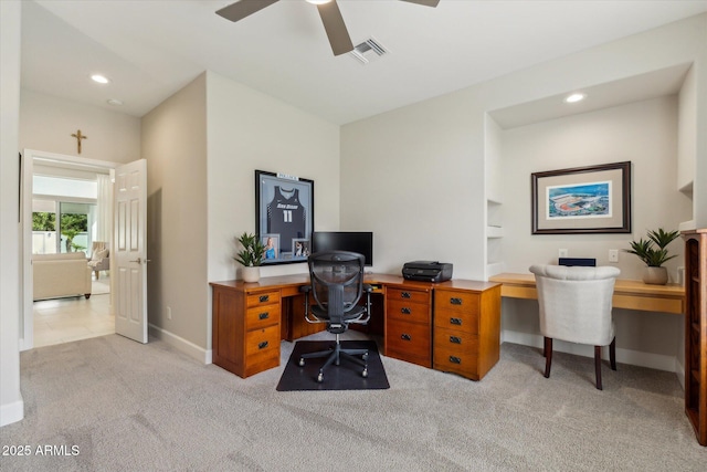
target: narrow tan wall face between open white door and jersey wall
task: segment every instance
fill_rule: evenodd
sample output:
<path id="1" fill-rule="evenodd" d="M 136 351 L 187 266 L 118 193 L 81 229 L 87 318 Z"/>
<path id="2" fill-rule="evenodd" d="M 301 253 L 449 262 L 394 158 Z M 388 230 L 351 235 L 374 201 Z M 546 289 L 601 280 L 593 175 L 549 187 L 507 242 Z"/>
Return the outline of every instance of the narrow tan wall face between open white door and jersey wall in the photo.
<path id="1" fill-rule="evenodd" d="M 207 347 L 207 80 L 143 118 L 147 159 L 148 319 L 152 334 Z M 171 311 L 171 319 L 167 316 Z"/>

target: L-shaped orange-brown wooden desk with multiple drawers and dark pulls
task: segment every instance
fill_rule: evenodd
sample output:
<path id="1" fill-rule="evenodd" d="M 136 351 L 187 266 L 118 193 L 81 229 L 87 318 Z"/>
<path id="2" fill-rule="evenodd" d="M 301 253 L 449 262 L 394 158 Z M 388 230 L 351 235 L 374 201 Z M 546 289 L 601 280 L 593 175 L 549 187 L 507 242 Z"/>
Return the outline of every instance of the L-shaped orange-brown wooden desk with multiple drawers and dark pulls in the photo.
<path id="1" fill-rule="evenodd" d="M 367 274 L 365 281 L 373 286 L 373 297 L 382 296 L 371 322 L 382 318 L 384 355 L 474 380 L 498 361 L 500 284 L 433 284 L 389 274 Z M 281 339 L 321 331 L 324 324 L 304 321 L 299 289 L 308 283 L 309 274 L 211 282 L 213 364 L 245 378 L 279 365 Z M 434 306 L 440 306 L 439 319 Z"/>

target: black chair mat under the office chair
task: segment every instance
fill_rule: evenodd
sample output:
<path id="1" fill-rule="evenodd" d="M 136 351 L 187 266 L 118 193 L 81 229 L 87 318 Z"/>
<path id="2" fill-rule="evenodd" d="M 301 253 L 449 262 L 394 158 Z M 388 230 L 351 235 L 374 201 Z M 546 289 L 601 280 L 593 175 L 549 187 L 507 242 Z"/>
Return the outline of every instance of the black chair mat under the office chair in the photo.
<path id="1" fill-rule="evenodd" d="M 368 377 L 361 377 L 362 367 L 341 358 L 339 366 L 330 365 L 324 369 L 324 381 L 317 381 L 319 368 L 326 358 L 306 359 L 299 367 L 299 356 L 334 347 L 334 340 L 298 340 L 283 371 L 278 391 L 293 390 L 369 390 L 390 388 L 386 369 L 378 354 L 374 340 L 342 340 L 341 347 L 348 349 L 368 349 Z"/>

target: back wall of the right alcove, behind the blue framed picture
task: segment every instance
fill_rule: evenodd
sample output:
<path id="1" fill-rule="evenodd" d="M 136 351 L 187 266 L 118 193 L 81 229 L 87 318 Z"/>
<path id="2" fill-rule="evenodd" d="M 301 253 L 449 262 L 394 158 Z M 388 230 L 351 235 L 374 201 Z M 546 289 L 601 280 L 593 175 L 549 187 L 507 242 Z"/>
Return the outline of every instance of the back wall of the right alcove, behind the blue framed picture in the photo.
<path id="1" fill-rule="evenodd" d="M 664 96 L 502 132 L 506 270 L 528 272 L 534 263 L 557 263 L 558 249 L 563 248 L 570 256 L 618 266 L 624 279 L 641 279 L 643 264 L 635 255 L 620 252 L 614 264 L 608 260 L 609 250 L 627 249 L 648 229 L 677 230 L 692 214 L 690 201 L 676 186 L 677 105 L 676 95 Z M 530 234 L 530 174 L 624 160 L 632 162 L 632 233 Z M 668 249 L 677 255 L 666 264 L 675 280 L 677 266 L 684 265 L 682 240 Z M 537 344 L 537 303 L 504 302 L 506 339 Z M 672 359 L 682 358 L 683 316 L 614 310 L 614 322 L 621 361 L 673 370 Z"/>

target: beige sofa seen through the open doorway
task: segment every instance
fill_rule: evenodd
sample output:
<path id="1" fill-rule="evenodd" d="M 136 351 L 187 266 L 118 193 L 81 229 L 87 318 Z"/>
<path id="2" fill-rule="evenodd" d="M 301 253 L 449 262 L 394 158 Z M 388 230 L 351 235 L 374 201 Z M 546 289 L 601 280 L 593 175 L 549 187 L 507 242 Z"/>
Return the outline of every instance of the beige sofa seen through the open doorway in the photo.
<path id="1" fill-rule="evenodd" d="M 84 252 L 32 255 L 33 300 L 91 297 L 91 268 Z"/>

